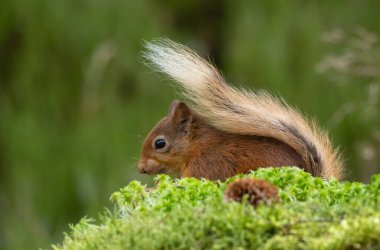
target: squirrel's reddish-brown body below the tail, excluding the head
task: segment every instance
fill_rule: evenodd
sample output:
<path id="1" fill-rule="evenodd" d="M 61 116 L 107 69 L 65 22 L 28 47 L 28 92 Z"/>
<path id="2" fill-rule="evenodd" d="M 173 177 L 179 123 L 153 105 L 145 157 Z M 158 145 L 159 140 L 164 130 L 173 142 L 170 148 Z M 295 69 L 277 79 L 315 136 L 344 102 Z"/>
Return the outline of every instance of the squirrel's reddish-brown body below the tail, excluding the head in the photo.
<path id="1" fill-rule="evenodd" d="M 225 180 L 259 167 L 299 166 L 299 155 L 283 142 L 260 136 L 234 135 L 207 126 L 197 131 L 189 147 L 188 159 L 181 169 L 183 177 Z"/>

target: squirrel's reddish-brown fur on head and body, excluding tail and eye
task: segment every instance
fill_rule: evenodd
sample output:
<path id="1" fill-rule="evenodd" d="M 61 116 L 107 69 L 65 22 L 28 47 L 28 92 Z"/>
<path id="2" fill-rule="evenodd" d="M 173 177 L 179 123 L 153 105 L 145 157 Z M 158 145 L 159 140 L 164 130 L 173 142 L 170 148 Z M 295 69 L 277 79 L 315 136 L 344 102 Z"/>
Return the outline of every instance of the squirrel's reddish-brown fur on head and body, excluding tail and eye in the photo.
<path id="1" fill-rule="evenodd" d="M 220 131 L 191 112 L 184 103 L 174 101 L 171 106 L 175 112 L 170 110 L 169 116 L 153 128 L 144 142 L 139 162 L 142 173 L 174 173 L 181 177 L 225 180 L 260 167 L 305 166 L 302 158 L 281 141 Z M 183 117 L 184 113 L 186 117 Z M 187 134 L 183 134 L 180 128 L 181 119 L 188 122 Z M 155 152 L 152 142 L 157 136 L 168 141 L 169 151 Z M 149 159 L 159 164 L 149 166 Z"/>

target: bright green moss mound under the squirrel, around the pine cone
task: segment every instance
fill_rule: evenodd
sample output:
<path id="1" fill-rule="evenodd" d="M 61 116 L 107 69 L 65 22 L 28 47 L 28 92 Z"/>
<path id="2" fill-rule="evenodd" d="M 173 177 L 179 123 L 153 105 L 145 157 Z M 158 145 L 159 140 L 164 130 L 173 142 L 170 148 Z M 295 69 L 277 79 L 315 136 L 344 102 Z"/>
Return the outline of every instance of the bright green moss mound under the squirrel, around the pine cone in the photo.
<path id="1" fill-rule="evenodd" d="M 226 202 L 227 183 L 157 177 L 111 196 L 114 212 L 82 219 L 55 249 L 356 249 L 380 247 L 380 175 L 370 184 L 324 181 L 297 168 L 249 174 L 282 202 L 256 209 Z M 236 177 L 235 177 L 236 178 Z"/>

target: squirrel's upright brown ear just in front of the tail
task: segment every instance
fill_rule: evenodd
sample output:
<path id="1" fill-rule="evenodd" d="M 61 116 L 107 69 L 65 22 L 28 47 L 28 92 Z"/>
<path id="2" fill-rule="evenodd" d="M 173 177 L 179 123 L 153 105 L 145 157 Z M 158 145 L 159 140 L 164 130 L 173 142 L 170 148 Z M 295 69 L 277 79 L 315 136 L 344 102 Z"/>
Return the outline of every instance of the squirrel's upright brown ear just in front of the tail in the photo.
<path id="1" fill-rule="evenodd" d="M 184 102 L 173 101 L 169 107 L 168 117 L 175 126 L 178 126 L 180 131 L 185 134 L 189 132 L 192 114 L 190 108 Z"/>

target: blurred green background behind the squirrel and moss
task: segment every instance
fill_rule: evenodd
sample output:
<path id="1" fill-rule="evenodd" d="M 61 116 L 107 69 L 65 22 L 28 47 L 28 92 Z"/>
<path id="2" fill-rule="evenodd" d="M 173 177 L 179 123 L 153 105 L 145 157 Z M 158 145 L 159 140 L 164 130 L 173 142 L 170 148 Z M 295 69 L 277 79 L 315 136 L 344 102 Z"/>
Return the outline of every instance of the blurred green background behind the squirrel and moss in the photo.
<path id="1" fill-rule="evenodd" d="M 380 172 L 380 1 L 0 1 L 0 249 L 46 248 L 137 173 L 178 97 L 141 60 L 169 37 L 318 118 L 347 179 Z"/>

